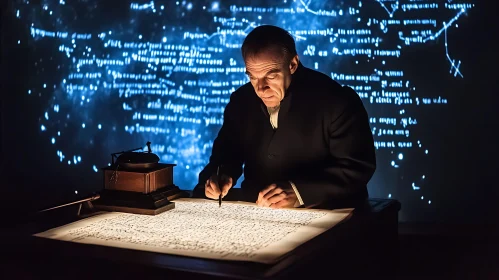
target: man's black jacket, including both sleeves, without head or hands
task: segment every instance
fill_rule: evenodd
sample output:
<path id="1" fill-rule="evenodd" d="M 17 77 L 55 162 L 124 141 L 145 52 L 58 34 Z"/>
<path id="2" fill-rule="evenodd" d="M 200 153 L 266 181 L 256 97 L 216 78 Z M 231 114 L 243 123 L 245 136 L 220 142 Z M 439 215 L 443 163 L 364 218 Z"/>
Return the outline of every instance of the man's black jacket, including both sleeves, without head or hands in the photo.
<path id="1" fill-rule="evenodd" d="M 286 91 L 278 128 L 250 83 L 230 97 L 195 197 L 223 165 L 234 184 L 242 174 L 244 200 L 255 202 L 272 183 L 292 181 L 305 205 L 324 200 L 365 199 L 376 169 L 369 118 L 357 93 L 299 65 Z"/>

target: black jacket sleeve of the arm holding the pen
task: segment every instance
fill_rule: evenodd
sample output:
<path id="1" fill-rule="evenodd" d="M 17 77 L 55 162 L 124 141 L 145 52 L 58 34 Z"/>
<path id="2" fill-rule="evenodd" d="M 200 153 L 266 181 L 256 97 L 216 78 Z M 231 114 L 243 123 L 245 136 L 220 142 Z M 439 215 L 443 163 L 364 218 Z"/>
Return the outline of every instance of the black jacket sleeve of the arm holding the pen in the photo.
<path id="1" fill-rule="evenodd" d="M 241 133 L 239 130 L 239 116 L 242 112 L 238 107 L 238 100 L 234 97 L 237 92 L 231 95 L 230 101 L 224 110 L 224 120 L 217 137 L 213 141 L 213 147 L 208 164 L 199 173 L 199 181 L 193 190 L 193 197 L 206 198 L 204 186 L 211 175 L 217 172 L 220 166 L 220 172 L 232 178 L 234 186 L 242 175 L 243 150 L 240 147 Z"/>

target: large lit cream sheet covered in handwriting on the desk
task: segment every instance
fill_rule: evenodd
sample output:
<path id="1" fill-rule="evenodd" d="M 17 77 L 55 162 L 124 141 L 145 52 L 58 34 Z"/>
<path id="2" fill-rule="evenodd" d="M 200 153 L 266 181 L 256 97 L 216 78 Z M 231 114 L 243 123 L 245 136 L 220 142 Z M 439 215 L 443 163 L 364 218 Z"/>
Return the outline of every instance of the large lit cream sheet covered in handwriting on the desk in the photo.
<path id="1" fill-rule="evenodd" d="M 156 216 L 108 212 L 35 236 L 199 258 L 273 263 L 353 209 L 270 209 L 247 202 L 177 199 Z"/>

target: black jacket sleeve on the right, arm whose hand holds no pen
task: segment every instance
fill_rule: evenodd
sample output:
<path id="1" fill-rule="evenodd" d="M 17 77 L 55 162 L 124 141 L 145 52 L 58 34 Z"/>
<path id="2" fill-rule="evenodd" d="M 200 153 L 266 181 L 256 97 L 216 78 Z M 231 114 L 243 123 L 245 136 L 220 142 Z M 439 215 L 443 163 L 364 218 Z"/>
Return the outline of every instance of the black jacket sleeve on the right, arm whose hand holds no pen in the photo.
<path id="1" fill-rule="evenodd" d="M 313 167 L 306 178 L 292 179 L 305 205 L 367 196 L 367 183 L 376 169 L 369 118 L 353 89 L 343 87 L 342 94 L 336 113 L 326 118 L 328 162 Z"/>

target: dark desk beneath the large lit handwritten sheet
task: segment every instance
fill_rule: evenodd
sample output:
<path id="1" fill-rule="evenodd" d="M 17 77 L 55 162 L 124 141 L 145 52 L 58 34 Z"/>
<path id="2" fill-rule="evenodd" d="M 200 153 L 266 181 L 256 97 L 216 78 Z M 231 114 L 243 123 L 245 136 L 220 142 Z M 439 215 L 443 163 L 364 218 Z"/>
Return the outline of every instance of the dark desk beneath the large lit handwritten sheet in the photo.
<path id="1" fill-rule="evenodd" d="M 398 260 L 395 200 L 370 199 L 346 222 L 276 264 L 206 260 L 32 237 L 57 226 L 25 224 L 10 232 L 7 275 L 16 279 L 357 279 L 394 278 Z M 69 220 L 58 220 L 65 224 Z M 61 224 L 61 225 L 62 225 Z M 393 272 L 391 274 L 390 272 Z M 337 278 L 338 277 L 338 278 Z M 12 278 L 13 279 L 13 278 Z"/>

